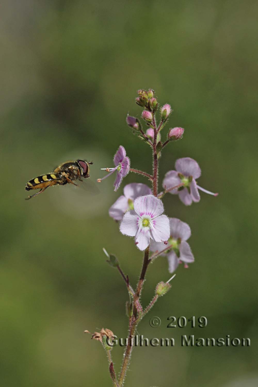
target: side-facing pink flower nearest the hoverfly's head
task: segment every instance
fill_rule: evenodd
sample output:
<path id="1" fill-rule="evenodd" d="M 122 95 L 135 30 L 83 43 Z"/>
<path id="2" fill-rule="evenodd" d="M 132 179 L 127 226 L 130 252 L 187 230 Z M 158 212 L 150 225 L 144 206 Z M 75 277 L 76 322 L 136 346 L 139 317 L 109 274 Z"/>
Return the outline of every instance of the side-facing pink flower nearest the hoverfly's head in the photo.
<path id="1" fill-rule="evenodd" d="M 108 172 L 110 171 L 110 173 L 108 173 L 108 175 L 104 176 L 102 179 L 97 179 L 97 182 L 100 183 L 102 180 L 112 175 L 114 171 L 117 171 L 116 180 L 114 181 L 114 191 L 117 191 L 123 178 L 130 170 L 130 159 L 126 156 L 125 148 L 122 145 L 120 145 L 118 151 L 114 155 L 114 165 L 115 168 L 101 168 L 102 170 L 106 170 Z"/>

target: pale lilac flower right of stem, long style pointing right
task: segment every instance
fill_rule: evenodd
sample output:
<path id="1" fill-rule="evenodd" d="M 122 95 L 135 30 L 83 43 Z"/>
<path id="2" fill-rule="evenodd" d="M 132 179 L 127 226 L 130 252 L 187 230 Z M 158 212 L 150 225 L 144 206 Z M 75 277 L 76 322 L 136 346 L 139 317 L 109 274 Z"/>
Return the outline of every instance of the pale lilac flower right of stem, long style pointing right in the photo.
<path id="1" fill-rule="evenodd" d="M 200 195 L 198 189 L 206 192 L 206 194 L 217 196 L 213 192 L 207 191 L 196 184 L 196 179 L 201 176 L 201 169 L 197 161 L 190 157 L 185 157 L 176 160 L 176 170 L 168 171 L 162 182 L 164 189 L 176 187 L 182 184 L 181 187 L 169 191 L 170 194 L 178 194 L 179 199 L 185 204 L 190 205 L 192 202 L 199 202 Z"/>

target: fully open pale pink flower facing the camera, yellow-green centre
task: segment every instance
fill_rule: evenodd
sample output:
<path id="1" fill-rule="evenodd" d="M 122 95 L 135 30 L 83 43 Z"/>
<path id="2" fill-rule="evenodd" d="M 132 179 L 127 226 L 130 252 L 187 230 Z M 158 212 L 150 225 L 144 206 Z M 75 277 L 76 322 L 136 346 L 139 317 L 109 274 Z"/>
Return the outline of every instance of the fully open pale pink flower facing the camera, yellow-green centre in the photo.
<path id="1" fill-rule="evenodd" d="M 150 244 L 150 238 L 156 242 L 169 238 L 169 219 L 164 212 L 162 201 L 153 195 L 137 197 L 133 202 L 134 209 L 127 211 L 120 223 L 124 235 L 134 236 L 140 250 Z"/>

